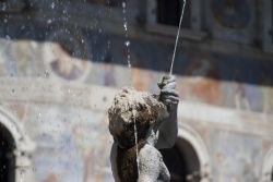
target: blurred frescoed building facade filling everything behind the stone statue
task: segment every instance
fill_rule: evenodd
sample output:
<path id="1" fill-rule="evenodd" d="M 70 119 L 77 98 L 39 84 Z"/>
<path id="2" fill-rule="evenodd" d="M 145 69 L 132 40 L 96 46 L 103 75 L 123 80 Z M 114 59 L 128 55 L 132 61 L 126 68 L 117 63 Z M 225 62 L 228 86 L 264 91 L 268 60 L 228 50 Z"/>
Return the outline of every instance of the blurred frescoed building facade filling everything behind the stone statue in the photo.
<path id="1" fill-rule="evenodd" d="M 171 182 L 273 181 L 273 1 L 188 0 Z M 158 94 L 182 0 L 0 0 L 0 182 L 111 182 L 107 108 Z"/>

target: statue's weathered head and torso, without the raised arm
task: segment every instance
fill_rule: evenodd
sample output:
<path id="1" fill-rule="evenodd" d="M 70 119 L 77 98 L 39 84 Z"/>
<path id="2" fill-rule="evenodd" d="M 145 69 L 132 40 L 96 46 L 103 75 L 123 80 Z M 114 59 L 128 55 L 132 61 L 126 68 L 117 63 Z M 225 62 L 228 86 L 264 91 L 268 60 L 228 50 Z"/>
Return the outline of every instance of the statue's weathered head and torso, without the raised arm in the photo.
<path id="1" fill-rule="evenodd" d="M 154 128 L 162 123 L 163 114 L 167 116 L 166 106 L 149 93 L 123 88 L 116 95 L 108 110 L 116 181 L 169 180 L 163 157 L 154 146 L 158 137 Z"/>

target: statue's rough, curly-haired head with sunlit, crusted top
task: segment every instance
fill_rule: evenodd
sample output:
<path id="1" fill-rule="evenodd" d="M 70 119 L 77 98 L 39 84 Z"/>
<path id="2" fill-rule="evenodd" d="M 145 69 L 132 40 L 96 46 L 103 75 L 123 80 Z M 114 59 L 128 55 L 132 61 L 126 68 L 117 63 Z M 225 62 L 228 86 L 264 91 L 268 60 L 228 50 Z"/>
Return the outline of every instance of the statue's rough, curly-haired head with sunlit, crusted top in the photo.
<path id="1" fill-rule="evenodd" d="M 119 92 L 108 110 L 109 131 L 120 147 L 135 145 L 134 123 L 138 142 L 145 141 L 159 118 L 166 113 L 166 107 L 149 93 L 123 88 Z"/>

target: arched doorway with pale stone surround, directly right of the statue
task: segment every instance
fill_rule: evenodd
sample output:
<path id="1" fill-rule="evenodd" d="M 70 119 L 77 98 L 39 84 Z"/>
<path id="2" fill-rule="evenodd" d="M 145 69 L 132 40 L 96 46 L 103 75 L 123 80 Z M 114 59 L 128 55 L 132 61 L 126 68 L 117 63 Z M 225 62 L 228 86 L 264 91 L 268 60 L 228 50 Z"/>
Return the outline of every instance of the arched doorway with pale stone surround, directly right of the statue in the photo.
<path id="1" fill-rule="evenodd" d="M 179 126 L 178 138 L 170 149 L 162 149 L 170 172 L 170 182 L 210 181 L 210 159 L 201 137 L 189 126 Z"/>

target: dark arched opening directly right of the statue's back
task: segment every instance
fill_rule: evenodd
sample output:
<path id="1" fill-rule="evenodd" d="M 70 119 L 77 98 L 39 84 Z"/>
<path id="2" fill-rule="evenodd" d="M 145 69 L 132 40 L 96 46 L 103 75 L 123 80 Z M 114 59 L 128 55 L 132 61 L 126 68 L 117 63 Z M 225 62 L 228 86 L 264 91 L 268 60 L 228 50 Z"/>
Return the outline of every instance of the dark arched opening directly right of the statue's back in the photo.
<path id="1" fill-rule="evenodd" d="M 178 138 L 170 149 L 161 149 L 164 162 L 170 172 L 170 182 L 199 182 L 200 161 L 192 145 Z"/>

